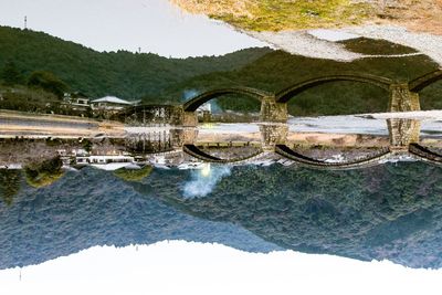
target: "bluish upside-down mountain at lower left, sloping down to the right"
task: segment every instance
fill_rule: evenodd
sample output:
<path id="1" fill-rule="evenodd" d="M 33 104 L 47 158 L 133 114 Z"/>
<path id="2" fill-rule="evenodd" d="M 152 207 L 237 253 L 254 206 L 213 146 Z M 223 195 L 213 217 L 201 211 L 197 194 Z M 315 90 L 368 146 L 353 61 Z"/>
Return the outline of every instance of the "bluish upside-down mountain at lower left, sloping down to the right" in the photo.
<path id="1" fill-rule="evenodd" d="M 280 249 L 241 226 L 188 215 L 150 194 L 140 196 L 112 173 L 93 169 L 67 173 L 49 188 L 23 188 L 12 206 L 0 201 L 0 268 L 94 245 L 164 240 L 217 242 L 251 252 Z"/>

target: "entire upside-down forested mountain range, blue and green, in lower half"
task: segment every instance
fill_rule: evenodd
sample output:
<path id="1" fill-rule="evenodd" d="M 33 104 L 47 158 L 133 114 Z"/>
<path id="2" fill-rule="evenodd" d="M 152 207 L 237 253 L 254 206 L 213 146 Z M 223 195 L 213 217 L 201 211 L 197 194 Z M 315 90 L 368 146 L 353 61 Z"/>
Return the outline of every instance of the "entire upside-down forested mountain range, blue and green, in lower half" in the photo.
<path id="1" fill-rule="evenodd" d="M 0 267 L 167 239 L 442 266 L 441 168 L 235 167 L 209 196 L 183 199 L 188 180 L 189 171 L 172 169 L 124 183 L 84 169 L 49 188 L 23 189 L 11 207 L 0 203 Z"/>

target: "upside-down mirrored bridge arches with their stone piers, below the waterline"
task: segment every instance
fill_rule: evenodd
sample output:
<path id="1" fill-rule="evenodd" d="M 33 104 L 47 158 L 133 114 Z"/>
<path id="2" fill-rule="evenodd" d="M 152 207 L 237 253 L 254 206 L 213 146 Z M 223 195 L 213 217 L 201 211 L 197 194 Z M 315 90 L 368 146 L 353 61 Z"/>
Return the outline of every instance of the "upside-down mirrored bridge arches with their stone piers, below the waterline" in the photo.
<path id="1" fill-rule="evenodd" d="M 286 141 L 288 126 L 281 124 L 276 126 L 261 126 L 261 148 L 245 157 L 222 159 L 199 149 L 191 140 L 183 144 L 183 151 L 202 161 L 219 164 L 248 164 L 265 159 L 269 155 L 275 154 L 281 159 L 288 160 L 299 166 L 336 170 L 366 168 L 400 158 L 411 158 L 442 165 L 442 156 L 419 144 L 420 122 L 414 119 L 388 119 L 387 125 L 389 127 L 388 147 L 380 147 L 367 156 L 349 161 L 318 160 L 296 151 L 291 148 Z M 196 141 L 194 139 L 196 137 L 193 141 Z"/>

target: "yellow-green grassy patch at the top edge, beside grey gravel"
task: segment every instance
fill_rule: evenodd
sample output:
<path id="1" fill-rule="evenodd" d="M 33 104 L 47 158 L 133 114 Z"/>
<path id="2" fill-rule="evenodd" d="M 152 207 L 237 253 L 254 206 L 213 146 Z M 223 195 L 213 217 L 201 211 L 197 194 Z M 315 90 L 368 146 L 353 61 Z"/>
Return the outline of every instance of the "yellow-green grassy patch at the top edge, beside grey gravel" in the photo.
<path id="1" fill-rule="evenodd" d="M 175 0 L 173 2 L 188 11 L 204 13 L 250 31 L 359 24 L 372 17 L 373 11 L 370 4 L 349 0 Z"/>

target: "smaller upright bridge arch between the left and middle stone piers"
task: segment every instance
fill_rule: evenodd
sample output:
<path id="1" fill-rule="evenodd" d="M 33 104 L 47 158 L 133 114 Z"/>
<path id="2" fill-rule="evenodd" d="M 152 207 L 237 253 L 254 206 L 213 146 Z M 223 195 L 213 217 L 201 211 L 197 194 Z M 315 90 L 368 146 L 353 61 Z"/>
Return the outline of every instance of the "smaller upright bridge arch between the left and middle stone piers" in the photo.
<path id="1" fill-rule="evenodd" d="M 260 102 L 264 97 L 272 95 L 267 92 L 255 89 L 255 88 L 250 88 L 250 87 L 231 87 L 231 88 L 211 89 L 211 91 L 201 93 L 200 95 L 193 97 L 189 102 L 186 102 L 185 105 L 182 106 L 182 108 L 185 109 L 185 112 L 194 112 L 198 109 L 198 107 L 206 104 L 210 99 L 213 99 L 213 98 L 220 97 L 222 95 L 227 95 L 227 94 L 246 95 L 246 96 L 255 98 Z"/>

